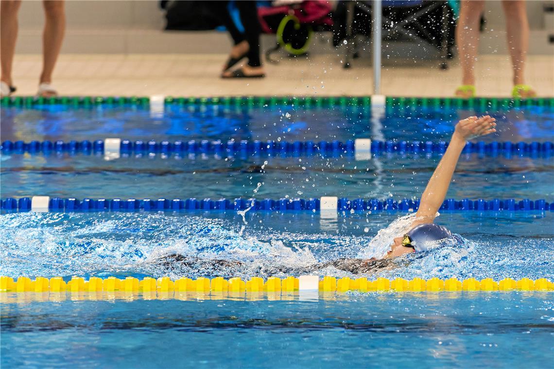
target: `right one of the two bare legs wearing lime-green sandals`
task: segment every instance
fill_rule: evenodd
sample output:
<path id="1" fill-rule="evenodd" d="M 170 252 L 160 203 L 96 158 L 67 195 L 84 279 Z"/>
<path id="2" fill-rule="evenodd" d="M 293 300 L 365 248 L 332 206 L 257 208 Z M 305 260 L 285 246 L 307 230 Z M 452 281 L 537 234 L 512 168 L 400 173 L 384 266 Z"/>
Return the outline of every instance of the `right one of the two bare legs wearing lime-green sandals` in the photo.
<path id="1" fill-rule="evenodd" d="M 524 85 L 525 57 L 529 48 L 529 22 L 523 0 L 502 1 L 506 14 L 508 49 L 514 68 L 514 85 Z M 535 91 L 522 91 L 522 97 L 535 96 Z"/>

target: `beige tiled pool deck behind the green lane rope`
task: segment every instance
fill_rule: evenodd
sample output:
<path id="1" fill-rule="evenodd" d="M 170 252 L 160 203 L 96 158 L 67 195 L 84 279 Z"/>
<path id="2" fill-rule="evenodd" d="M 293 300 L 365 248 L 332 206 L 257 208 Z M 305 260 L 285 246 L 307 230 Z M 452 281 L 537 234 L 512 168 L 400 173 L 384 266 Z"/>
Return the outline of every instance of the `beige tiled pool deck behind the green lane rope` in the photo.
<path id="1" fill-rule="evenodd" d="M 344 70 L 340 57 L 315 55 L 266 64 L 265 79 L 222 80 L 219 54 L 64 54 L 54 73 L 54 85 L 64 96 L 362 96 L 373 92 L 368 58 Z M 16 95 L 34 95 L 41 55 L 16 55 Z M 387 60 L 382 70 L 382 94 L 387 96 L 452 96 L 460 82 L 456 59 L 448 70 L 438 60 Z M 527 82 L 539 96 L 554 96 L 554 56 L 529 56 Z M 476 75 L 478 96 L 509 96 L 511 66 L 507 55 L 480 56 Z"/>

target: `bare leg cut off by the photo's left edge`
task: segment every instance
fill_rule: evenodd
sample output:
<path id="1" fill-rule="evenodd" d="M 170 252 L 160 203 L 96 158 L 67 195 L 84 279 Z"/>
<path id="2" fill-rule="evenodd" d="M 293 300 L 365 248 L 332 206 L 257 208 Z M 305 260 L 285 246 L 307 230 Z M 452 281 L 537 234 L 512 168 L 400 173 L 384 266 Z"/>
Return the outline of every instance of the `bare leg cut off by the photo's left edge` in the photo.
<path id="1" fill-rule="evenodd" d="M 17 12 L 21 0 L 3 0 L 0 2 L 0 80 L 12 86 L 13 55 L 16 51 Z"/>

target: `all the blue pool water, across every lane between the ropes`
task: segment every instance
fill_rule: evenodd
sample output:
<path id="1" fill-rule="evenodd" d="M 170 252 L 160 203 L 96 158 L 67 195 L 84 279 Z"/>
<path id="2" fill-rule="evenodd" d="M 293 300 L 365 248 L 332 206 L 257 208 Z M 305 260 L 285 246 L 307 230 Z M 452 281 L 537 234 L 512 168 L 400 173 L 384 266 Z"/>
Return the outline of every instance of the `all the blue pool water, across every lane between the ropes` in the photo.
<path id="1" fill-rule="evenodd" d="M 42 106 L 1 109 L 2 140 L 448 139 L 485 112 L 361 107 Z M 490 112 L 489 141 L 554 141 L 554 111 Z M 0 156 L 2 198 L 419 198 L 440 157 L 120 158 Z M 463 155 L 447 197 L 554 200 L 552 157 Z M 554 280 L 554 212 L 444 211 L 456 247 L 397 259 L 377 277 Z M 392 225 L 391 225 L 392 223 Z M 321 219 L 310 212 L 3 213 L 6 276 L 280 276 L 351 274 L 319 262 L 381 257 L 409 224 L 400 212 Z M 381 230 L 381 232 L 379 232 Z M 378 233 L 379 232 L 379 233 Z M 189 263 L 167 263 L 168 254 Z M 197 260 L 199 258 L 199 260 Z M 238 267 L 206 267 L 229 259 Z M 209 263 L 208 263 L 209 264 Z M 283 267 L 287 272 L 275 270 Z M 0 294 L 2 367 L 550 367 L 552 293 L 354 293 L 312 300 L 262 296 L 145 300 Z M 44 300 L 44 301 L 43 301 Z"/>

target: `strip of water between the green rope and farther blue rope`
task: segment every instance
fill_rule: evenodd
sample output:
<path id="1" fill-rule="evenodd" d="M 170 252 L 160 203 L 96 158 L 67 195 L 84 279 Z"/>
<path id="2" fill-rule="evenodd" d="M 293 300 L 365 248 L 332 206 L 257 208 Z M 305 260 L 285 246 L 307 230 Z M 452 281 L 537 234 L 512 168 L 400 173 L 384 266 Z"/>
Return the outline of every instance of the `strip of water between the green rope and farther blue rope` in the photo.
<path id="1" fill-rule="evenodd" d="M 223 105 L 166 105 L 162 114 L 140 106 L 74 108 L 43 105 L 33 109 L 3 107 L 2 140 L 71 139 L 274 139 L 277 141 L 358 137 L 439 141 L 448 139 L 454 123 L 471 115 L 490 114 L 497 133 L 488 141 L 551 141 L 553 107 L 512 108 L 507 111 L 455 108 L 388 108 L 376 113 L 368 107 L 305 108 L 294 105 L 232 107 Z"/>

